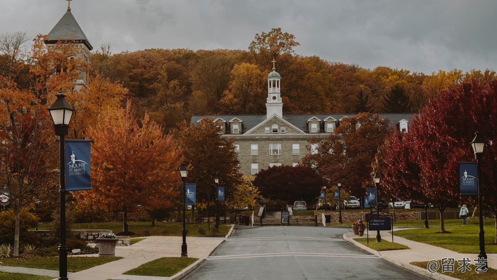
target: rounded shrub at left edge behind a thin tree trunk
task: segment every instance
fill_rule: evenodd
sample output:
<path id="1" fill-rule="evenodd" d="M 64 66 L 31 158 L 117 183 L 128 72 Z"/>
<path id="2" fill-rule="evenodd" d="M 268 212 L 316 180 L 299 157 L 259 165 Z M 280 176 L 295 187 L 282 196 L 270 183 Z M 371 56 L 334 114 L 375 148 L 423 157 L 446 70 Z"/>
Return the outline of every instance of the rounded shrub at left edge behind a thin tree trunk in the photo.
<path id="1" fill-rule="evenodd" d="M 21 210 L 19 224 L 19 243 L 29 243 L 36 240 L 36 233 L 30 229 L 36 227 L 36 217 L 26 209 Z M 14 244 L 15 216 L 12 209 L 0 212 L 0 243 Z"/>

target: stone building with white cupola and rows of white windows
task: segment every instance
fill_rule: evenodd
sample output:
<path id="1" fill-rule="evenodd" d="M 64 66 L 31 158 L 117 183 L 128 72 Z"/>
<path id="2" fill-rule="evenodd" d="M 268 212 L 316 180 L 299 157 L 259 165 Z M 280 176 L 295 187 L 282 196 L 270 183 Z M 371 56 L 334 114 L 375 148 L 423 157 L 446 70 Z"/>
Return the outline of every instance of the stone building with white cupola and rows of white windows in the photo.
<path id="1" fill-rule="evenodd" d="M 222 137 L 232 138 L 239 153 L 240 172 L 256 174 L 270 166 L 295 166 L 316 150 L 309 143 L 312 137 L 327 138 L 344 117 L 357 114 L 283 115 L 281 76 L 267 75 L 266 115 L 193 115 L 196 125 L 202 118 L 213 119 L 222 129 Z M 378 114 L 390 125 L 408 131 L 412 114 Z"/>

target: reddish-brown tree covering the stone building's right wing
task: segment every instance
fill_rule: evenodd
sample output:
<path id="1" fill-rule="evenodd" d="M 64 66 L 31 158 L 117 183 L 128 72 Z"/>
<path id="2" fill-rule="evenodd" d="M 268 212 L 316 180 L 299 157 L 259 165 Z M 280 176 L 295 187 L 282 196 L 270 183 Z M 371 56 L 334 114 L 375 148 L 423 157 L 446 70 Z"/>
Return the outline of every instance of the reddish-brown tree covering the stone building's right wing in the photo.
<path id="1" fill-rule="evenodd" d="M 341 181 L 353 195 L 362 197 L 364 187 L 372 182 L 374 156 L 388 134 L 388 120 L 378 115 L 359 113 L 342 118 L 327 139 L 309 140 L 316 150 L 302 162 L 315 168 L 327 182 Z"/>

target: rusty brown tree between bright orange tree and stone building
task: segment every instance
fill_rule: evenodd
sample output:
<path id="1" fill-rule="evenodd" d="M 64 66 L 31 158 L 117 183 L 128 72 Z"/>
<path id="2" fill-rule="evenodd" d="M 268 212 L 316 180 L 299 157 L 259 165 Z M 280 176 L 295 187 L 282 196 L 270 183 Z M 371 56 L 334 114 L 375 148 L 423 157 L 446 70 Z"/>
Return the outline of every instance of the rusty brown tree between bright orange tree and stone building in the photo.
<path id="1" fill-rule="evenodd" d="M 195 126 L 184 122 L 181 129 L 171 131 L 175 142 L 183 150 L 184 161 L 189 165 L 188 182 L 197 184 L 197 206 L 206 207 L 208 193 L 215 193 L 214 175 L 219 185 L 225 186 L 225 203 L 228 206 L 254 205 L 257 189 L 250 179 L 240 173 L 238 153 L 233 139 L 222 138 L 220 127 L 212 119 L 204 118 Z"/>

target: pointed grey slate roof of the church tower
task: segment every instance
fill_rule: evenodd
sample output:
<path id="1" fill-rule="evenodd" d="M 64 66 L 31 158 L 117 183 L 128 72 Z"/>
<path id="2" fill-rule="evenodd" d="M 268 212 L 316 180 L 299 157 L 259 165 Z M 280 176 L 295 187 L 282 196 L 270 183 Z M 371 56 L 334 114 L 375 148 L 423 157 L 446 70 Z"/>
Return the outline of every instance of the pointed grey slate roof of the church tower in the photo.
<path id="1" fill-rule="evenodd" d="M 74 37 L 72 37 L 73 34 Z M 54 28 L 48 33 L 48 37 L 49 39 L 45 40 L 45 44 L 55 44 L 59 39 L 71 39 L 82 41 L 89 50 L 93 49 L 70 10 L 55 24 Z"/>

